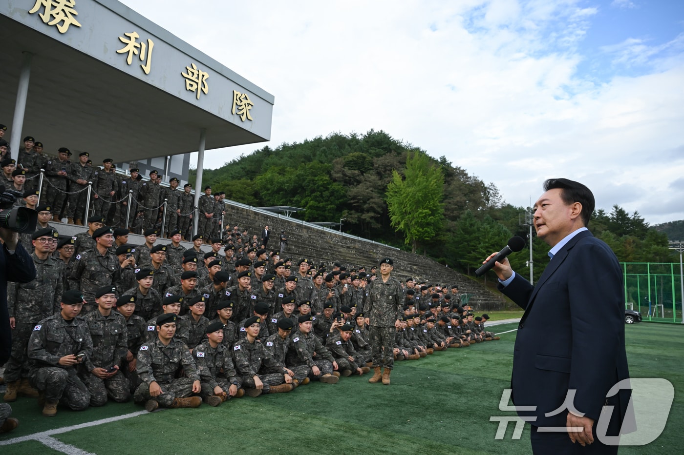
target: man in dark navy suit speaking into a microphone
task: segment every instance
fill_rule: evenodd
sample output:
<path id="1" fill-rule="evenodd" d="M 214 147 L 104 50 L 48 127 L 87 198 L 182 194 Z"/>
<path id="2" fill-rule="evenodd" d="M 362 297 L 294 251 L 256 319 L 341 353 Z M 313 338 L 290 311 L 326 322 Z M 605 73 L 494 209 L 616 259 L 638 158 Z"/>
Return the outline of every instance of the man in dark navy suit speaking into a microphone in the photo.
<path id="1" fill-rule="evenodd" d="M 564 178 L 547 180 L 544 191 L 534 227 L 551 247 L 551 262 L 538 283 L 516 275 L 508 260 L 494 267 L 499 290 L 525 310 L 513 354 L 513 403 L 532 425 L 535 454 L 615 454 L 618 446 L 605 445 L 596 425 L 609 419 L 605 434 L 619 435 L 629 403 L 626 389 L 607 396 L 629 378 L 622 270 L 587 229 L 591 191 Z M 560 431 L 543 430 L 551 427 Z"/>

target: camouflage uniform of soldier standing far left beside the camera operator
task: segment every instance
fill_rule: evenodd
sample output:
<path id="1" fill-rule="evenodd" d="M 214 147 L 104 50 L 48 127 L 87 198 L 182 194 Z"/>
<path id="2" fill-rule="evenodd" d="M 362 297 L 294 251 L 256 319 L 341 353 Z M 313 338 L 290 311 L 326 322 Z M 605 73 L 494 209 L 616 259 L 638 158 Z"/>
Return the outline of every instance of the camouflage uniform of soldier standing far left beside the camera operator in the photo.
<path id="1" fill-rule="evenodd" d="M 31 254 L 36 267 L 36 278 L 28 283 L 8 282 L 7 307 L 14 318 L 12 351 L 5 364 L 5 382 L 19 381 L 27 376 L 27 344 L 38 321 L 60 311 L 60 299 L 64 293 L 64 262 L 48 256 L 38 259 Z M 22 374 L 22 370 L 26 370 Z"/>

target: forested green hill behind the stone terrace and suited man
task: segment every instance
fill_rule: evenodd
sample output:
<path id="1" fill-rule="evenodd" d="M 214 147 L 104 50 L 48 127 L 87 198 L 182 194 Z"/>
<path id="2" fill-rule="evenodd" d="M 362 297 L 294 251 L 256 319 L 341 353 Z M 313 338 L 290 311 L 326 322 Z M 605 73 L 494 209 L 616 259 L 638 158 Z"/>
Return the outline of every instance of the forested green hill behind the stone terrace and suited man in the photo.
<path id="1" fill-rule="evenodd" d="M 195 174 L 190 171 L 191 182 Z M 205 169 L 202 180 L 243 204 L 300 207 L 293 217 L 311 222 L 344 219 L 344 232 L 410 247 L 465 273 L 510 236 L 527 238 L 520 225 L 525 208 L 505 204 L 494 184 L 383 131 L 264 147 L 220 169 Z M 590 225 L 620 261 L 670 262 L 666 235 L 648 228 L 638 212 L 629 215 L 620 206 L 610 213 L 596 210 Z M 548 247 L 533 240 L 538 277 Z M 529 253 L 509 259 L 525 273 Z"/>

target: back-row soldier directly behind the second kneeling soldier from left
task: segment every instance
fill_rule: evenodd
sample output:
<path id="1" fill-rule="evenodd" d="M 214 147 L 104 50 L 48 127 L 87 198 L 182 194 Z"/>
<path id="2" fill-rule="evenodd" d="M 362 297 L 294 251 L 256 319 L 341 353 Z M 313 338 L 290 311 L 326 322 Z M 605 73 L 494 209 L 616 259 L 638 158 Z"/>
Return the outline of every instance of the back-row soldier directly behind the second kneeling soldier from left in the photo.
<path id="1" fill-rule="evenodd" d="M 76 256 L 76 263 L 69 275 L 69 288 L 83 292 L 88 303 L 83 307 L 83 313 L 94 309 L 95 292 L 103 286 L 114 284 L 121 271 L 119 259 L 109 250 L 114 243 L 114 230 L 105 226 L 96 230 L 92 238 L 96 247 Z"/>

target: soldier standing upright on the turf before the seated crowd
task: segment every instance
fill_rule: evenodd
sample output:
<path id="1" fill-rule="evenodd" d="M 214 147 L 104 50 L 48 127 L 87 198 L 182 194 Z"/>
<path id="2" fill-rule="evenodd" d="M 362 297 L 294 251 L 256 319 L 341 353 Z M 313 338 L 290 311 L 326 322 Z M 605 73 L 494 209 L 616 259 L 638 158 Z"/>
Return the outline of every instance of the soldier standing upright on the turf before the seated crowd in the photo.
<path id="1" fill-rule="evenodd" d="M 404 291 L 397 279 L 390 276 L 393 260 L 384 258 L 380 262 L 380 279 L 371 281 L 366 288 L 367 299 L 365 313 L 368 316 L 369 338 L 373 350 L 373 377 L 369 383 L 378 383 L 382 378 L 384 385 L 389 385 L 390 374 L 394 366 L 393 353 L 390 346 L 395 344 L 396 328 L 399 327 L 399 315 L 404 306 Z M 380 368 L 384 367 L 382 374 Z"/>

